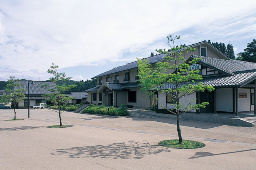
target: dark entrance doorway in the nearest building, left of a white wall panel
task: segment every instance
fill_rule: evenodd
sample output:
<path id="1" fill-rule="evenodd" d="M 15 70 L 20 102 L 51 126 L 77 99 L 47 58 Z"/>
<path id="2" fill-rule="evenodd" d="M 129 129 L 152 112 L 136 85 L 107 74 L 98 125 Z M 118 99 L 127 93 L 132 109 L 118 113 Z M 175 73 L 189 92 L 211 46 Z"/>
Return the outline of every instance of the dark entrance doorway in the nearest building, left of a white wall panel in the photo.
<path id="1" fill-rule="evenodd" d="M 199 101 L 202 102 L 208 102 L 209 105 L 206 106 L 206 108 L 202 109 L 200 108 L 200 113 L 214 113 L 214 91 L 204 91 L 199 93 Z"/>

